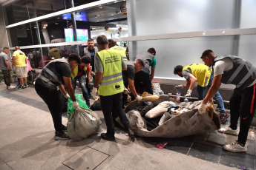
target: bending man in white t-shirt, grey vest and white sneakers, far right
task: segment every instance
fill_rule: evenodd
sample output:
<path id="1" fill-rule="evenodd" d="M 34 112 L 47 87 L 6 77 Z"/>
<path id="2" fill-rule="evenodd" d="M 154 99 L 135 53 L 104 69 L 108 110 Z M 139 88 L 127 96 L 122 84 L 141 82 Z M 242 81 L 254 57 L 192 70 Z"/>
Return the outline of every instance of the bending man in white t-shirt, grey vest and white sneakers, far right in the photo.
<path id="1" fill-rule="evenodd" d="M 248 61 L 234 55 L 215 56 L 212 50 L 203 52 L 201 58 L 206 66 L 214 66 L 214 79 L 198 112 L 206 112 L 206 103 L 220 88 L 220 84 L 234 84 L 236 88 L 230 99 L 230 126 L 220 129 L 230 135 L 238 135 L 233 143 L 223 146 L 230 152 L 246 152 L 246 140 L 256 109 L 256 68 Z M 240 117 L 240 131 L 237 121 Z"/>

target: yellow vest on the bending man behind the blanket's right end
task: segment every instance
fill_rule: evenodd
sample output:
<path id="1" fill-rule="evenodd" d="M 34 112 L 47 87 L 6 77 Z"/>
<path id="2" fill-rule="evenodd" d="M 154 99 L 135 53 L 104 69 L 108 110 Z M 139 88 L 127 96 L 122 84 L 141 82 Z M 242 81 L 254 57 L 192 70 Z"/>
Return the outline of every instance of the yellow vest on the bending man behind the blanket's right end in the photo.
<path id="1" fill-rule="evenodd" d="M 199 86 L 207 86 L 209 84 L 212 71 L 211 67 L 208 67 L 205 64 L 190 64 L 183 67 L 183 70 L 188 68 L 191 69 L 191 74 L 197 78 L 197 84 Z"/>

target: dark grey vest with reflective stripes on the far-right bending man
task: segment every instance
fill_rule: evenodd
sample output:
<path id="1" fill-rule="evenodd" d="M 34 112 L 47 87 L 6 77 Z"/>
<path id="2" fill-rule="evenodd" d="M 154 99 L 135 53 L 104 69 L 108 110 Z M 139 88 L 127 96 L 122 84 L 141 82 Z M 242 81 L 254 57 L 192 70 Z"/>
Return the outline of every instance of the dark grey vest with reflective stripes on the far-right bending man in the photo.
<path id="1" fill-rule="evenodd" d="M 248 61 L 234 55 L 217 56 L 214 58 L 214 64 L 224 58 L 231 58 L 233 68 L 224 71 L 221 82 L 223 84 L 234 84 L 237 88 L 246 89 L 256 80 L 256 68 Z"/>

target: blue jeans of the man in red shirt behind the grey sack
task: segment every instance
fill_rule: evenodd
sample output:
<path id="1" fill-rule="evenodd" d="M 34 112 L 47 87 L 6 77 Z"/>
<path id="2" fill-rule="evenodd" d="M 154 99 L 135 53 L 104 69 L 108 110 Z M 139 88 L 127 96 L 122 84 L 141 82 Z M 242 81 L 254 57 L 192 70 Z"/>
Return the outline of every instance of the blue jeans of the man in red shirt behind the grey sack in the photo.
<path id="1" fill-rule="evenodd" d="M 86 84 L 85 84 L 85 75 L 80 75 L 79 77 L 74 78 L 74 80 L 72 79 L 72 86 L 73 86 L 73 90 L 76 89 L 76 81 L 79 81 L 79 84 L 81 86 L 82 89 L 82 96 L 85 99 L 85 102 L 87 104 L 88 107 L 90 107 L 90 97 L 88 94 L 88 90 L 86 88 Z"/>

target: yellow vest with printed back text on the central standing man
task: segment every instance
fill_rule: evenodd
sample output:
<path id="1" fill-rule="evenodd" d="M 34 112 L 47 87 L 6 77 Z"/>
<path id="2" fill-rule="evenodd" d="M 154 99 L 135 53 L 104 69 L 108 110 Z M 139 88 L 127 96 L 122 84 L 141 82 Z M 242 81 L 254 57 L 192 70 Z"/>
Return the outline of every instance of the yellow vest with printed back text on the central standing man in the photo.
<path id="1" fill-rule="evenodd" d="M 124 91 L 122 81 L 122 59 L 115 50 L 102 50 L 97 52 L 102 61 L 103 75 L 99 84 L 99 95 L 115 95 Z"/>

